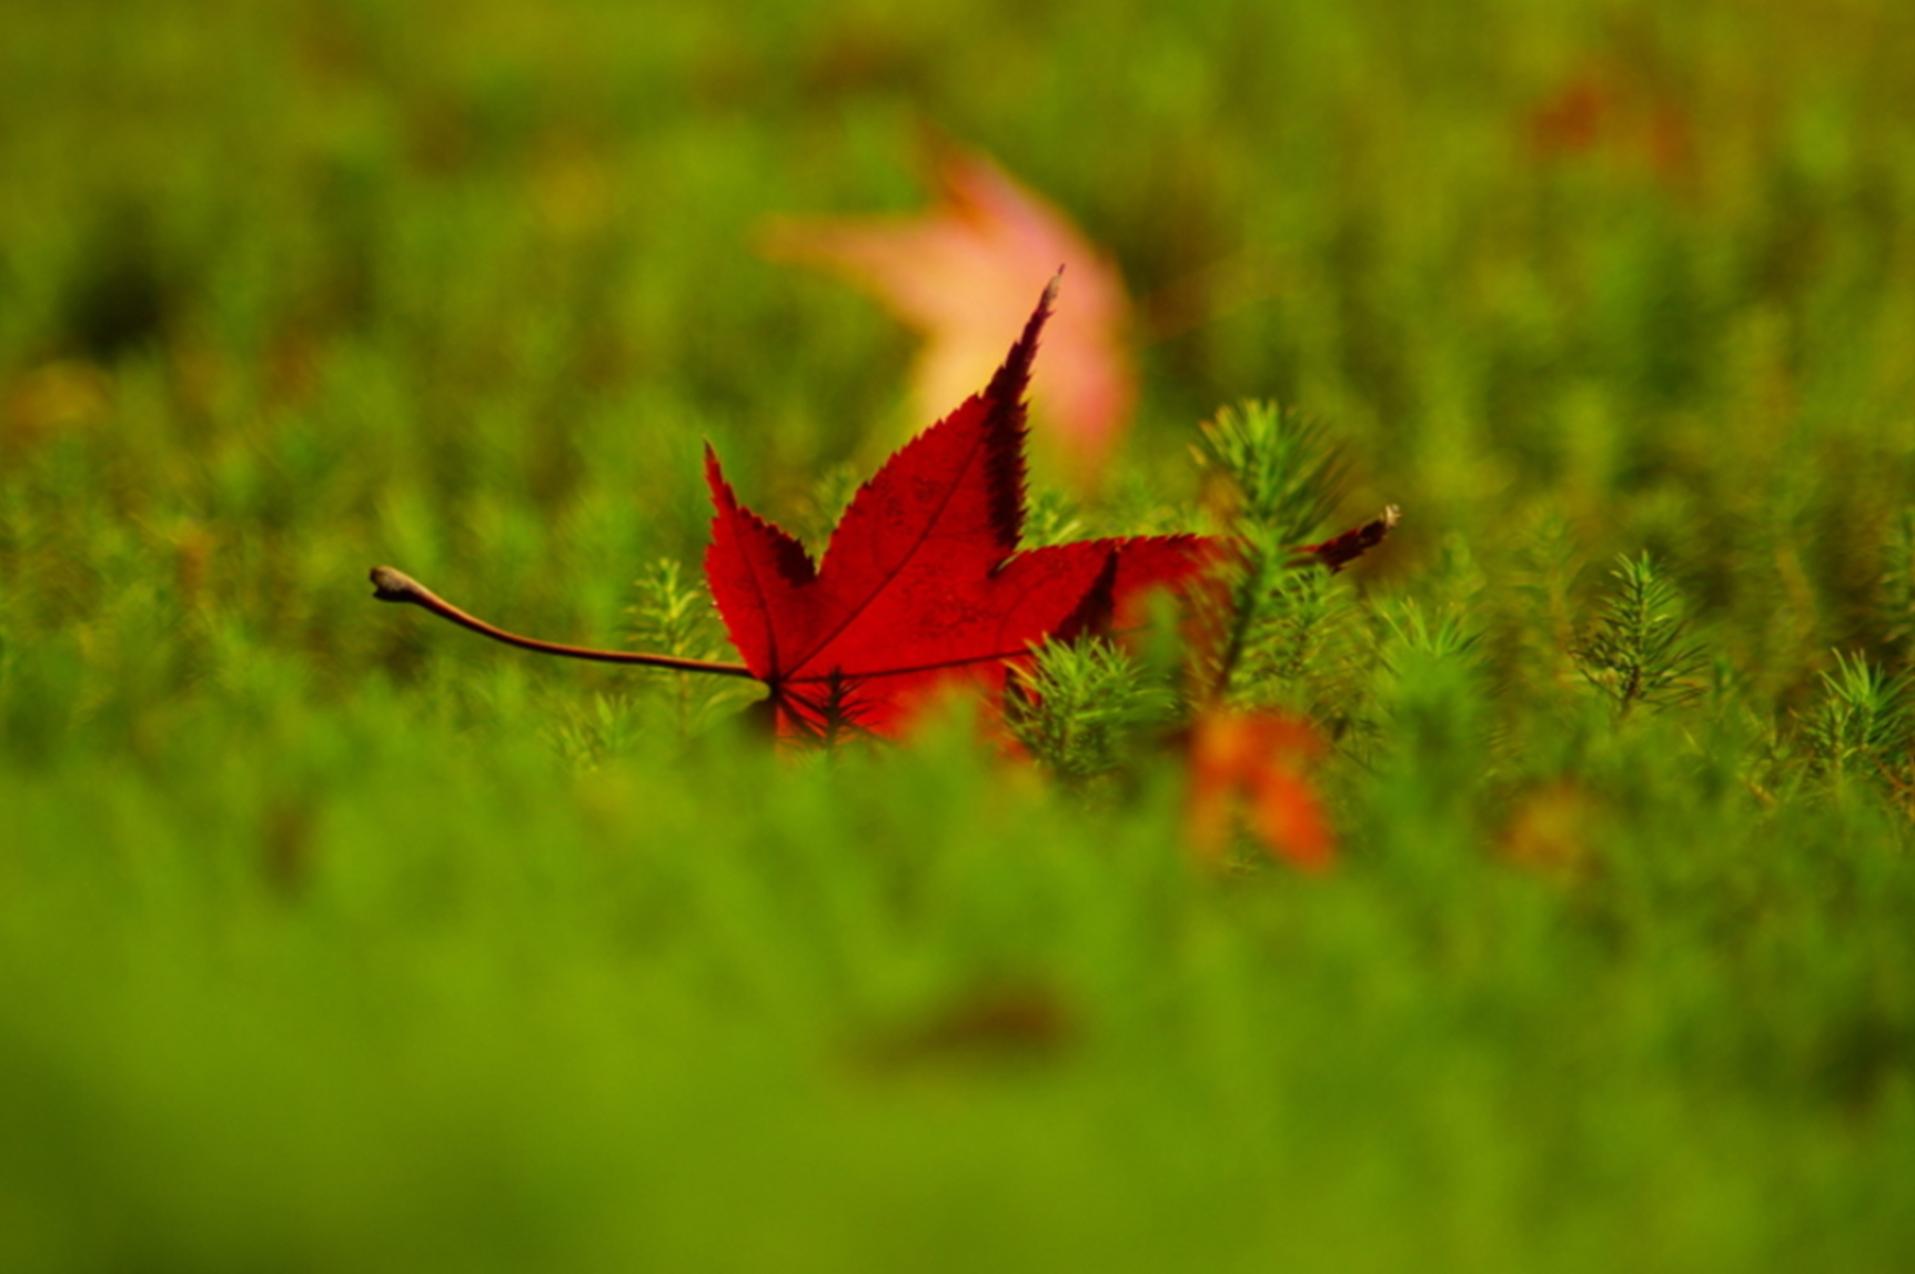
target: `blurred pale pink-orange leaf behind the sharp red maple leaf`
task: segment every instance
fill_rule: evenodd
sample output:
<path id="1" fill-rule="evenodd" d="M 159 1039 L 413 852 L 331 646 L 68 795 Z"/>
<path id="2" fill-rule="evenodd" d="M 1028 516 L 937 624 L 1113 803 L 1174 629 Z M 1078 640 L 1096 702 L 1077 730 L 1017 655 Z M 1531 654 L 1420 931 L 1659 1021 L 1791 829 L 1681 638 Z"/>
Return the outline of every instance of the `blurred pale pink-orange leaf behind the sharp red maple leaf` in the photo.
<path id="1" fill-rule="evenodd" d="M 776 220 L 764 251 L 845 275 L 923 333 L 917 419 L 944 415 L 990 377 L 1003 333 L 1063 266 L 1030 384 L 1034 436 L 1072 480 L 1095 486 L 1138 396 L 1124 279 L 1061 210 L 982 155 L 948 151 L 938 184 L 938 203 L 912 216 Z"/>

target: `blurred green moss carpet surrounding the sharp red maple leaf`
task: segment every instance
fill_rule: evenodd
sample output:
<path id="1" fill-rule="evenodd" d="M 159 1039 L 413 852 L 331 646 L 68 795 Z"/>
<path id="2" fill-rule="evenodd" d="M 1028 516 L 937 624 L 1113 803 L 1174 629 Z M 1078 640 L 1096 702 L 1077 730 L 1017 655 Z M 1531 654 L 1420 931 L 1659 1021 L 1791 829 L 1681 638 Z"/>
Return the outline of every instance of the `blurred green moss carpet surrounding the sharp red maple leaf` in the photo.
<path id="1" fill-rule="evenodd" d="M 0 1264 L 1907 1268 L 1907 731 L 1802 723 L 1915 635 L 1911 67 L 1902 0 L 0 8 Z M 1362 604 L 1482 635 L 1333 878 L 1187 870 L 1170 761 L 774 763 L 366 599 L 617 643 L 707 438 L 806 524 L 912 339 L 755 228 L 927 134 L 1139 297 L 1088 518 L 1300 404 L 1408 515 Z M 1710 694 L 1622 729 L 1643 549 Z"/>

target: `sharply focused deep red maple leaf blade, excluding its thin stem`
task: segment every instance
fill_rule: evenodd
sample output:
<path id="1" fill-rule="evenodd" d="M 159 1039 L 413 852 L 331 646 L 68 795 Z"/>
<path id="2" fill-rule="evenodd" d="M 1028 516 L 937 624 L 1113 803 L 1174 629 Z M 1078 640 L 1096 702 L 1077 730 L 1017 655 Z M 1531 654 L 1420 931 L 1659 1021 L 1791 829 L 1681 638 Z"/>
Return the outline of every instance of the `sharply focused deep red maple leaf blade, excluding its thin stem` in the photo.
<path id="1" fill-rule="evenodd" d="M 1003 687 L 1030 645 L 1107 629 L 1155 585 L 1212 559 L 1199 536 L 1019 551 L 1025 388 L 1057 283 L 982 394 L 892 455 L 852 499 L 820 562 L 739 505 L 718 457 L 705 578 L 785 736 L 896 733 L 927 691 Z"/>

